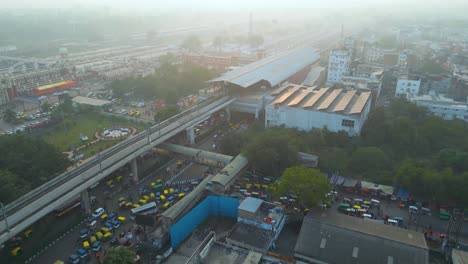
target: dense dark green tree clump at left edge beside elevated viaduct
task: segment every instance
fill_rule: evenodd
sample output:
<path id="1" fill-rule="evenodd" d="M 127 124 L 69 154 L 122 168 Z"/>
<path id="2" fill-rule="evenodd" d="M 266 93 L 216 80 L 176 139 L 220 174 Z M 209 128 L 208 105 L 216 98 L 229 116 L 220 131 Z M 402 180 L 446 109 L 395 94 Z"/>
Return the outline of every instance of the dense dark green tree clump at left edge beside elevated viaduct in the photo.
<path id="1" fill-rule="evenodd" d="M 0 201 L 3 203 L 46 183 L 69 165 L 62 153 L 40 139 L 4 136 L 0 137 L 0 149 L 8 150 L 0 152 L 0 184 L 4 190 Z"/>

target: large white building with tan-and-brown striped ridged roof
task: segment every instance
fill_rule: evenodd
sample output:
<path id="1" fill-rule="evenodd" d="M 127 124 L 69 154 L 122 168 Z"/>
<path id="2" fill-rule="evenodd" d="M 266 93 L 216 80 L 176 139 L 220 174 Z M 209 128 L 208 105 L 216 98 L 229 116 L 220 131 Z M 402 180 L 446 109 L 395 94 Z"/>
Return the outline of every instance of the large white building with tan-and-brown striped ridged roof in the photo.
<path id="1" fill-rule="evenodd" d="M 265 98 L 265 127 L 308 131 L 327 128 L 359 135 L 370 111 L 371 92 L 286 84 Z"/>

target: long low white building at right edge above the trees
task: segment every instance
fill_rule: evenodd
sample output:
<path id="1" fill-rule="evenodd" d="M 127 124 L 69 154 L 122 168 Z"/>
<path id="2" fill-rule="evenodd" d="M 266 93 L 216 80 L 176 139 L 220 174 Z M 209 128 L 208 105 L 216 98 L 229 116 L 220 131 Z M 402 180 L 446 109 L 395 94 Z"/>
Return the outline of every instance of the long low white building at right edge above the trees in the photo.
<path id="1" fill-rule="evenodd" d="M 426 107 L 429 112 L 445 120 L 460 119 L 468 122 L 467 103 L 457 102 L 432 92 L 422 96 L 408 94 L 406 98 L 419 106 Z"/>

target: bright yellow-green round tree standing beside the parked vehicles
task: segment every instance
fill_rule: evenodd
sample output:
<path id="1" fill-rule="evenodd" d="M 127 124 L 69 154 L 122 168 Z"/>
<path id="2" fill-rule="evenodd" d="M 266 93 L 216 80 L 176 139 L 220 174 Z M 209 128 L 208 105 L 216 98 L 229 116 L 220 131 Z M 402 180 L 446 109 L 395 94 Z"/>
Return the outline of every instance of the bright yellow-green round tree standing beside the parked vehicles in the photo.
<path id="1" fill-rule="evenodd" d="M 318 170 L 290 167 L 281 176 L 277 190 L 279 195 L 297 196 L 297 202 L 302 208 L 312 208 L 325 200 L 325 194 L 330 192 L 331 185 Z"/>

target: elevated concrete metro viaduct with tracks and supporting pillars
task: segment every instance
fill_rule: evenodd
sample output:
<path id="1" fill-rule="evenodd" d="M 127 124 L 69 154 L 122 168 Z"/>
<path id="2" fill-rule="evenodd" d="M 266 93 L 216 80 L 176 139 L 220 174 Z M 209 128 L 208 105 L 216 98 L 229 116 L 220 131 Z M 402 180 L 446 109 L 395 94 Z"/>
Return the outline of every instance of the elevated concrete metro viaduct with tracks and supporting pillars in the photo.
<path id="1" fill-rule="evenodd" d="M 193 129 L 233 101 L 235 99 L 229 96 L 221 96 L 200 102 L 195 107 L 99 153 L 94 159 L 6 205 L 0 221 L 0 244 L 79 194 L 82 194 L 85 206 L 89 206 L 87 189 L 127 163 L 132 165 L 134 177 L 138 177 L 135 159 L 139 155 L 182 131 Z M 90 208 L 86 209 L 89 212 Z"/>

